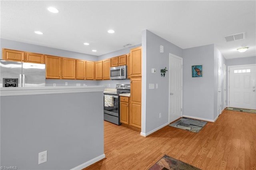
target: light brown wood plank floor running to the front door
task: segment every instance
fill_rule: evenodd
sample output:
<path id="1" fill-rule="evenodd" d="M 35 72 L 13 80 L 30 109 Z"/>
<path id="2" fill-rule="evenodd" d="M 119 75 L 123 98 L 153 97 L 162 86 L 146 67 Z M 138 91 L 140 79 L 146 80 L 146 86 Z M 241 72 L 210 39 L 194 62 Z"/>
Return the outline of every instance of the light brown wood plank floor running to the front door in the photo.
<path id="1" fill-rule="evenodd" d="M 166 126 L 146 138 L 104 121 L 104 153 L 84 170 L 147 170 L 164 154 L 202 170 L 256 170 L 256 114 L 224 111 L 198 133 Z"/>

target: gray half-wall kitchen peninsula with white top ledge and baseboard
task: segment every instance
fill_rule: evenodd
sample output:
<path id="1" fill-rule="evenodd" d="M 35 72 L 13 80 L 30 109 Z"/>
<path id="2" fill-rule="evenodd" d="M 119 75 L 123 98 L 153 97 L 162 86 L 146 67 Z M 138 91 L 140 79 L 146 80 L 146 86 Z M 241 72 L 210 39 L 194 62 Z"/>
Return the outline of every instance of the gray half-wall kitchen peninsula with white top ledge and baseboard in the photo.
<path id="1" fill-rule="evenodd" d="M 82 169 L 105 158 L 105 86 L 0 88 L 1 165 Z M 47 150 L 47 162 L 38 153 Z"/>

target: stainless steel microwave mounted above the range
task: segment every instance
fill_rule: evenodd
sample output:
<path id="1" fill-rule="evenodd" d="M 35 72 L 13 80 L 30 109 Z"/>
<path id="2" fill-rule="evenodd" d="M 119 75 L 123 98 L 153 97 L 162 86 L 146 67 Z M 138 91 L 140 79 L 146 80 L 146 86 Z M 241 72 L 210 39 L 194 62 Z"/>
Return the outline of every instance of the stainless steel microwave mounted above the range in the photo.
<path id="1" fill-rule="evenodd" d="M 111 80 L 127 79 L 127 65 L 110 67 L 110 79 Z"/>

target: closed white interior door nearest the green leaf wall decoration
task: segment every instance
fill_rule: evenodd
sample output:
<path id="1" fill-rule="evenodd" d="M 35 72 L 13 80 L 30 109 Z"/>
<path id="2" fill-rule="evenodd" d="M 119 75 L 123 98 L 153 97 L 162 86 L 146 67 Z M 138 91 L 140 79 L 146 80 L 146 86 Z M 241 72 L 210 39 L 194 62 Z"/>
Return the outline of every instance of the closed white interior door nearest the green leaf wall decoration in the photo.
<path id="1" fill-rule="evenodd" d="M 169 54 L 170 59 L 170 104 L 169 123 L 182 117 L 182 63 L 181 57 Z"/>

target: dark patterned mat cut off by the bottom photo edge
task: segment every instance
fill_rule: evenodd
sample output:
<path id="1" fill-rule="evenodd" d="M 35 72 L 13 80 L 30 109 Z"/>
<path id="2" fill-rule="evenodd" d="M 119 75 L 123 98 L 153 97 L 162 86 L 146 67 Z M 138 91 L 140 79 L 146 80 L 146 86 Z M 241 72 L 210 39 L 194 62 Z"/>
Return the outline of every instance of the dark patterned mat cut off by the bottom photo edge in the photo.
<path id="1" fill-rule="evenodd" d="M 149 170 L 200 170 L 190 164 L 176 160 L 170 156 L 164 155 Z"/>

